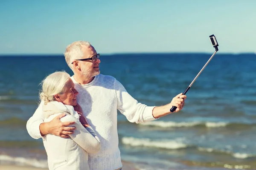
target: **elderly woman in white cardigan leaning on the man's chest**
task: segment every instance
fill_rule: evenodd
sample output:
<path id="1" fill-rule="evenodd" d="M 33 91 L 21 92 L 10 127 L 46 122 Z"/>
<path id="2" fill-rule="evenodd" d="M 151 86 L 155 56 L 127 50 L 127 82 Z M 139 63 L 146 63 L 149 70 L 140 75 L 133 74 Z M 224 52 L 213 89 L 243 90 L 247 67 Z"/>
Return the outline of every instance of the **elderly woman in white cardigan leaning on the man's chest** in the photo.
<path id="1" fill-rule="evenodd" d="M 65 113 L 61 122 L 75 122 L 76 130 L 70 138 L 47 134 L 43 139 L 49 170 L 89 170 L 88 153 L 100 150 L 98 136 L 81 113 L 74 110 L 78 91 L 70 75 L 59 71 L 50 74 L 42 82 L 40 99 L 44 101 L 44 122 Z M 79 121 L 80 119 L 80 121 Z M 82 123 L 81 123 L 82 122 Z M 83 124 L 83 125 L 82 125 Z"/>

